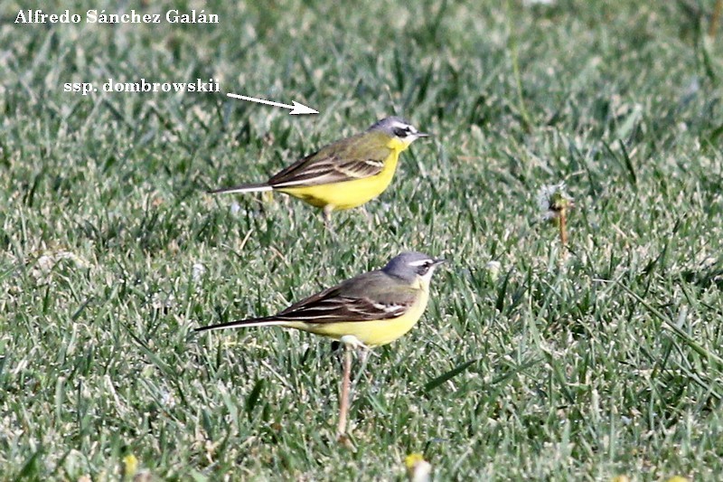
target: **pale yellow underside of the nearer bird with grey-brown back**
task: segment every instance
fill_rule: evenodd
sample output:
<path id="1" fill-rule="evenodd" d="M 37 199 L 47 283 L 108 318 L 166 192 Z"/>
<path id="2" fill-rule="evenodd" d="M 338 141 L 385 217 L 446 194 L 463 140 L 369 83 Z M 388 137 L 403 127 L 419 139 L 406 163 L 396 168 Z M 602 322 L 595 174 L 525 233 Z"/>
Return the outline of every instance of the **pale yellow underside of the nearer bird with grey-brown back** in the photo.
<path id="1" fill-rule="evenodd" d="M 415 326 L 422 317 L 427 307 L 429 294 L 423 290 L 417 303 L 409 307 L 407 313 L 398 318 L 374 320 L 374 321 L 348 321 L 334 323 L 303 323 L 292 322 L 287 326 L 314 333 L 315 335 L 328 336 L 339 340 L 342 336 L 351 335 L 356 337 L 364 345 L 379 346 L 387 345 L 399 336 L 405 335 L 412 326 Z"/>

